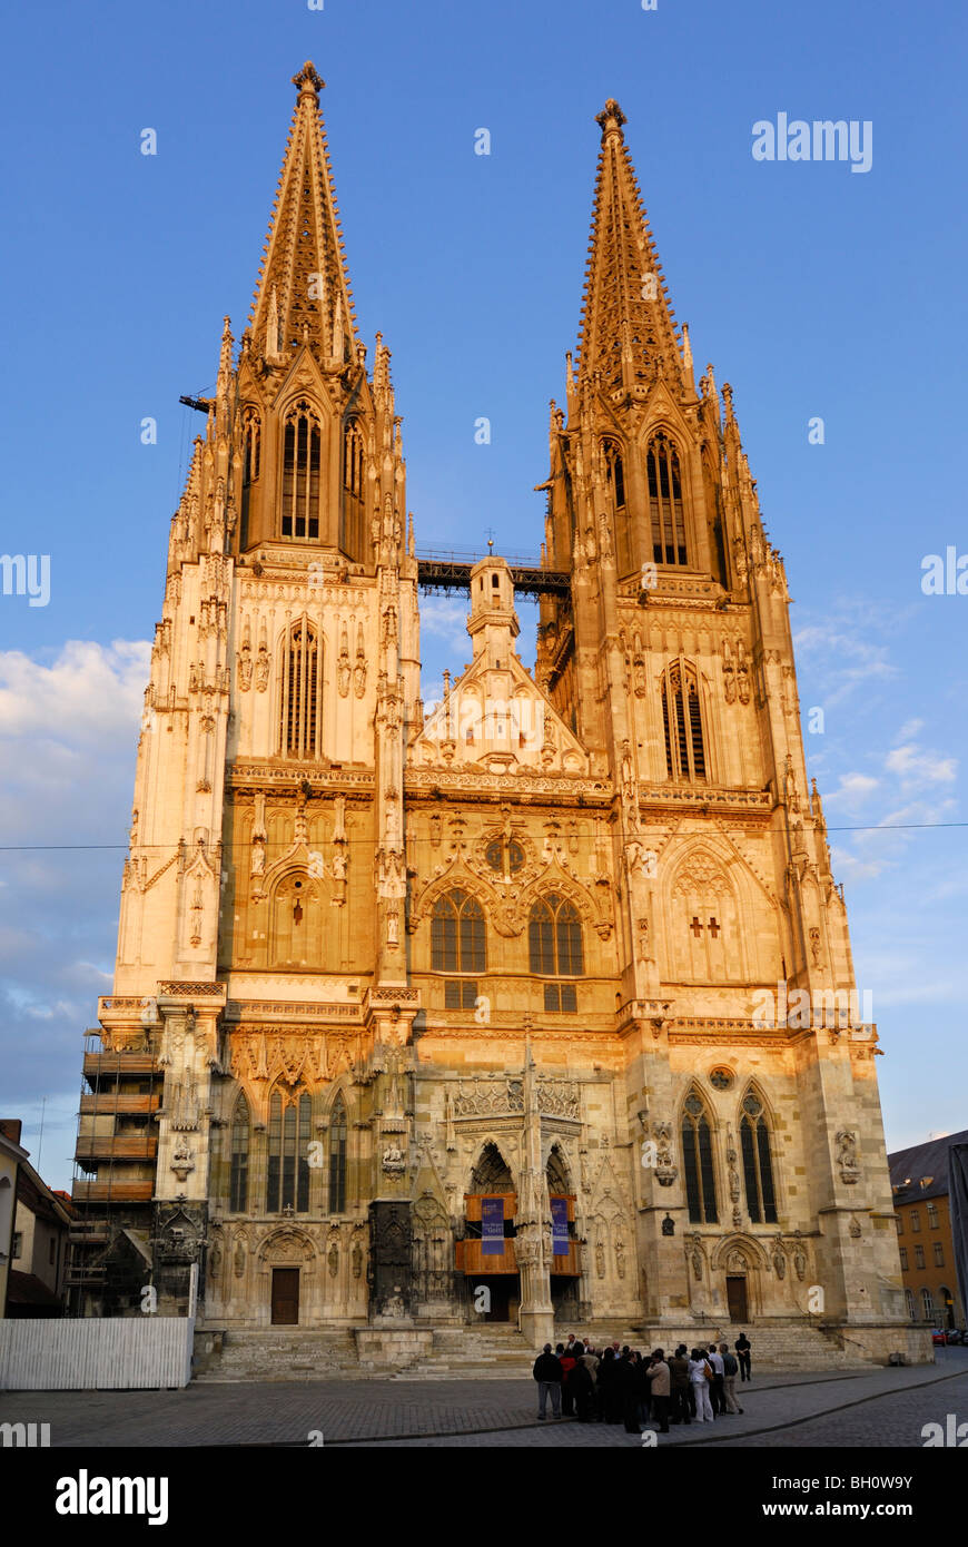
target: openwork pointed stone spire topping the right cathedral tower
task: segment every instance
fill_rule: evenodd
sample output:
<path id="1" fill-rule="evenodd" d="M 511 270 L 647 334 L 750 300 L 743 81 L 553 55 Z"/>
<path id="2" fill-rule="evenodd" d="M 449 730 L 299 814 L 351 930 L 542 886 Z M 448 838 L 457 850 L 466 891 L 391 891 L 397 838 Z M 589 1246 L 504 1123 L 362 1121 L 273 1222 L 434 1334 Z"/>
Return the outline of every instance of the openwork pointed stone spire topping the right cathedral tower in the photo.
<path id="1" fill-rule="evenodd" d="M 677 382 L 682 356 L 662 265 L 622 135 L 625 113 L 609 99 L 597 122 L 602 150 L 585 271 L 578 374 L 589 382 L 600 371 L 606 391 L 643 387 L 659 368 Z"/>

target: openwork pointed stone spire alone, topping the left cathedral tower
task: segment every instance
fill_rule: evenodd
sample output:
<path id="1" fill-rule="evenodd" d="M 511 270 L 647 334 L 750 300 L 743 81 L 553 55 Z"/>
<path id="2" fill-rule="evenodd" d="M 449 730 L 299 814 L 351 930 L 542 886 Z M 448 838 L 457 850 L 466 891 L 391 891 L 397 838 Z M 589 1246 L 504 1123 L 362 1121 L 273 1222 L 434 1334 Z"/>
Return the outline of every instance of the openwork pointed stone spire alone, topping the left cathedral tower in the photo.
<path id="1" fill-rule="evenodd" d="M 326 131 L 325 85 L 306 60 L 278 179 L 249 323 L 254 348 L 272 364 L 308 342 L 320 359 L 353 359 L 356 331 Z"/>

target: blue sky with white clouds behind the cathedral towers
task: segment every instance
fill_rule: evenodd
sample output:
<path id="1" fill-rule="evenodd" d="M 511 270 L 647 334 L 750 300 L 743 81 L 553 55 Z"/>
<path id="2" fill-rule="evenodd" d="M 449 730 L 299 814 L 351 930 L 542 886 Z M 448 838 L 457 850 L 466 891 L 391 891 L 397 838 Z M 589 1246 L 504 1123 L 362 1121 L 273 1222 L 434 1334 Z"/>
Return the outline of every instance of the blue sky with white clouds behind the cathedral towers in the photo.
<path id="1" fill-rule="evenodd" d="M 0 596 L 0 843 L 124 845 L 167 523 L 203 424 L 178 398 L 210 387 L 223 314 L 244 325 L 303 59 L 328 82 L 359 325 L 393 350 L 422 545 L 490 529 L 537 552 L 594 114 L 615 96 L 677 319 L 697 373 L 733 385 L 787 563 L 889 1146 L 965 1128 L 968 829 L 880 831 L 965 820 L 968 599 L 920 588 L 926 554 L 968 552 L 965 31 L 954 0 L 11 12 L 0 551 L 49 554 L 51 599 Z M 756 162 L 752 127 L 778 113 L 871 121 L 871 170 Z M 469 659 L 462 617 L 425 603 L 428 687 Z M 36 1154 L 46 1095 L 57 1185 L 119 871 L 110 848 L 0 852 L 0 1105 Z"/>

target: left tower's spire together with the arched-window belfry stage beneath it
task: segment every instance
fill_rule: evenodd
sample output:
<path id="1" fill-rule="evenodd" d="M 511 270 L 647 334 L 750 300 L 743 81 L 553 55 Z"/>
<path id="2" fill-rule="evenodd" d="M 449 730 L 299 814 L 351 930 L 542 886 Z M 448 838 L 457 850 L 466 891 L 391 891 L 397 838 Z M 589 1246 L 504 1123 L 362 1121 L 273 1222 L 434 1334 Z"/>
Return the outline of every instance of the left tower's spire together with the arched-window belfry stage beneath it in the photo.
<path id="1" fill-rule="evenodd" d="M 390 351 L 373 379 L 356 333 L 326 133 L 322 77 L 298 90 L 233 398 L 237 552 L 306 543 L 373 569 L 387 495 L 405 503 Z"/>

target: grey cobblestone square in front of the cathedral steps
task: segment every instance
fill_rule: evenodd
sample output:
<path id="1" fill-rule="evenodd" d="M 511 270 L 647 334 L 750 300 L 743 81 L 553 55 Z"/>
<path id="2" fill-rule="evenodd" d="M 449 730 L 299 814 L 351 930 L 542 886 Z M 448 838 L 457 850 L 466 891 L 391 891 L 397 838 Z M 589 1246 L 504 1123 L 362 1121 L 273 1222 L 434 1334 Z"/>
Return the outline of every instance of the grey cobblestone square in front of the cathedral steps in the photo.
<path id="1" fill-rule="evenodd" d="M 936 1364 L 755 1375 L 744 1414 L 673 1428 L 665 1446 L 920 1446 L 922 1426 L 968 1422 L 968 1349 Z M 186 1391 L 0 1392 L 0 1422 L 49 1423 L 51 1446 L 642 1446 L 622 1425 L 537 1422 L 533 1381 L 340 1380 Z"/>

